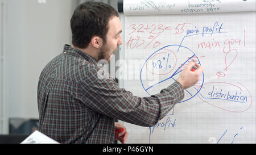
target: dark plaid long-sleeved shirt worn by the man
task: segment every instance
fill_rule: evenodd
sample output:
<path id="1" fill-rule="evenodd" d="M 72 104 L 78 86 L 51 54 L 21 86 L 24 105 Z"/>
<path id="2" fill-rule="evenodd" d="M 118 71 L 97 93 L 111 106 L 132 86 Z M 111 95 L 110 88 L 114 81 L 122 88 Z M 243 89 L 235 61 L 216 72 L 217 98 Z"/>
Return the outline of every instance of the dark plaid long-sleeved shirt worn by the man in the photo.
<path id="1" fill-rule="evenodd" d="M 100 79 L 97 61 L 69 45 L 38 83 L 39 131 L 59 143 L 114 143 L 114 120 L 151 127 L 184 98 L 179 82 L 151 97 L 135 97 L 113 78 Z"/>

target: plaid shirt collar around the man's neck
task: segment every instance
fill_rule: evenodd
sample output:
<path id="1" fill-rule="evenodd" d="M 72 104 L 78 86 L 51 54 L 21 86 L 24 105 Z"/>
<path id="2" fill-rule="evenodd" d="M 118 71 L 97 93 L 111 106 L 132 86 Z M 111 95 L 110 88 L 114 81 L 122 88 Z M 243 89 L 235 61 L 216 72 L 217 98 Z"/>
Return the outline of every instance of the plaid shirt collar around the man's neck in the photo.
<path id="1" fill-rule="evenodd" d="M 97 61 L 95 60 L 95 58 L 86 54 L 85 52 L 82 52 L 80 49 L 71 47 L 71 45 L 65 44 L 64 49 L 63 49 L 63 53 L 65 55 L 72 55 L 72 56 L 82 57 L 85 60 L 89 61 L 90 63 L 92 63 L 94 65 L 97 65 Z"/>

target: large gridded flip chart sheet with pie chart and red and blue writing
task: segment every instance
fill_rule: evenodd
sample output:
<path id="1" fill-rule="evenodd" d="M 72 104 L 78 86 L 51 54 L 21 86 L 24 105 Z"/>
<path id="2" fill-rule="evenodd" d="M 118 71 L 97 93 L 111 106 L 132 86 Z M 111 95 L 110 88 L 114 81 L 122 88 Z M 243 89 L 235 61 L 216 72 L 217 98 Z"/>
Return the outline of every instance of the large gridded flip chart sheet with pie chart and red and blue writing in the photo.
<path id="1" fill-rule="evenodd" d="M 127 143 L 256 143 L 255 11 L 124 20 L 120 70 L 123 87 L 134 95 L 159 93 L 192 59 L 204 68 L 155 127 L 124 123 Z"/>

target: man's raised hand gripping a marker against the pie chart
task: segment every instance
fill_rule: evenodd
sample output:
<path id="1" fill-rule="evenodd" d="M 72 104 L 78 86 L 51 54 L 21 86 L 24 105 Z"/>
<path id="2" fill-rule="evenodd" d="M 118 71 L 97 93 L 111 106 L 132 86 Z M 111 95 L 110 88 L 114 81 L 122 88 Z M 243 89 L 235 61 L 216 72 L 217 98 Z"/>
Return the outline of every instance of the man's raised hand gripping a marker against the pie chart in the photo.
<path id="1" fill-rule="evenodd" d="M 193 66 L 196 66 L 197 69 L 192 71 Z M 180 77 L 177 79 L 183 89 L 187 89 L 196 84 L 200 79 L 200 74 L 203 72 L 203 68 L 196 62 L 191 62 L 181 73 Z"/>

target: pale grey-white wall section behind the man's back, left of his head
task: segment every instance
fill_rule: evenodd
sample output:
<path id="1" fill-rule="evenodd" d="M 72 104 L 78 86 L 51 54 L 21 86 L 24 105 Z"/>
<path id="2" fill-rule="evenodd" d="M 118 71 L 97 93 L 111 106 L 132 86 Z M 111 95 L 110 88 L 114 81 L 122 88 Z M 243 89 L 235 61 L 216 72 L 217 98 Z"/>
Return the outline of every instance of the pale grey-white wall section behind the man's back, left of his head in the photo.
<path id="1" fill-rule="evenodd" d="M 39 118 L 37 86 L 44 66 L 71 44 L 72 0 L 8 0 L 7 118 Z"/>

